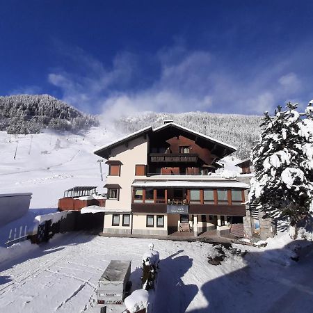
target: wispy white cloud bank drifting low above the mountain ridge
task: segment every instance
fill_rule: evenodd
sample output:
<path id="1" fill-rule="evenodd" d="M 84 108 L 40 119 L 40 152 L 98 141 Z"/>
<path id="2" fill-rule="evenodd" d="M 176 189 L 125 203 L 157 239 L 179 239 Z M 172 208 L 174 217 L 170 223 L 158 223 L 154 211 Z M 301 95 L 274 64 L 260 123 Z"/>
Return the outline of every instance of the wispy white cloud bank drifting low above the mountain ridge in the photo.
<path id="1" fill-rule="evenodd" d="M 49 82 L 63 90 L 66 102 L 89 112 L 101 106 L 107 118 L 138 111 L 260 114 L 295 99 L 302 86 L 286 58 L 232 70 L 209 51 L 188 51 L 179 44 L 147 56 L 159 68 L 147 84 L 151 73 L 136 54 L 120 53 L 104 67 L 81 49 L 74 51 L 67 56 L 79 64 L 79 72 L 55 70 Z"/>

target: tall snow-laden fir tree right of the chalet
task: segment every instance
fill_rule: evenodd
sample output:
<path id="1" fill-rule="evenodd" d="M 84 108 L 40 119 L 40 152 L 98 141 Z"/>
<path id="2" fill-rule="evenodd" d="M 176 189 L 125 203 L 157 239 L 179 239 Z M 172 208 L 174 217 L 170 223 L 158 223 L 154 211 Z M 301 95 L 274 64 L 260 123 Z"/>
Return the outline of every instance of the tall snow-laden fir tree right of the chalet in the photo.
<path id="1" fill-rule="evenodd" d="M 249 193 L 250 204 L 264 211 L 264 217 L 287 217 L 291 226 L 313 209 L 312 107 L 303 114 L 296 108 L 289 103 L 284 111 L 279 106 L 273 117 L 265 113 L 251 154 L 255 176 Z"/>

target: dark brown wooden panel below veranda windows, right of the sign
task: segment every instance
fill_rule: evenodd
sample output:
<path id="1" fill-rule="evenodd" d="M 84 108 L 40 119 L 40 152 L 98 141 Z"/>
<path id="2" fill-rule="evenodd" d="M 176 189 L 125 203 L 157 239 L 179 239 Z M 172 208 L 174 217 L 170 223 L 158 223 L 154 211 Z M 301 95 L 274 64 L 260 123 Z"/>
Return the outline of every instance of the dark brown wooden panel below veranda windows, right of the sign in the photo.
<path id="1" fill-rule="evenodd" d="M 189 204 L 189 214 L 246 216 L 246 206 L 227 204 Z"/>

